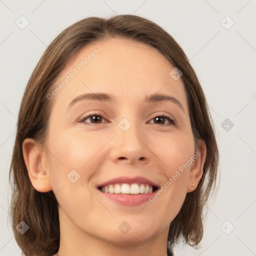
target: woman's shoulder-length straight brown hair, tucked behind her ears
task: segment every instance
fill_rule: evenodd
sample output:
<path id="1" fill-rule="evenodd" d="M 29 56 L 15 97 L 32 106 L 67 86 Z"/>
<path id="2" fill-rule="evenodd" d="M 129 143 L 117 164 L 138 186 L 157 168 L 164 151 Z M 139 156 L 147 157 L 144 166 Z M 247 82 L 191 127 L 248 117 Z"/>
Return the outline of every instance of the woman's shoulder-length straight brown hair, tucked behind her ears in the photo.
<path id="1" fill-rule="evenodd" d="M 124 37 L 158 49 L 182 71 L 182 81 L 195 139 L 206 144 L 203 174 L 193 192 L 170 223 L 168 248 L 181 238 L 191 246 L 202 239 L 202 209 L 216 185 L 218 148 L 205 96 L 188 58 L 177 42 L 154 22 L 136 15 L 110 18 L 88 17 L 64 29 L 46 48 L 27 83 L 21 101 L 9 179 L 12 180 L 12 229 L 17 244 L 27 256 L 52 255 L 59 248 L 58 203 L 52 191 L 36 191 L 28 177 L 22 155 L 25 138 L 43 141 L 47 135 L 51 106 L 46 97 L 68 60 L 85 45 L 109 37 Z M 51 100 L 52 101 L 52 100 Z M 15 226 L 23 220 L 29 229 L 20 234 Z"/>

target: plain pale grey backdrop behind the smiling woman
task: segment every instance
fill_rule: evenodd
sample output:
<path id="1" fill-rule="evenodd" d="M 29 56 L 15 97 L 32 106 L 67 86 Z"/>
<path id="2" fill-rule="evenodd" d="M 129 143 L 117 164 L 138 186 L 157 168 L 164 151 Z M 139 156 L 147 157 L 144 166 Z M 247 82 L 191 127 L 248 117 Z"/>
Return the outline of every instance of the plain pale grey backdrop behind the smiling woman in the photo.
<path id="1" fill-rule="evenodd" d="M 25 85 L 59 32 L 79 19 L 115 13 L 149 18 L 177 40 L 216 125 L 220 185 L 208 205 L 202 246 L 180 245 L 175 256 L 256 255 L 255 10 L 255 0 L 0 0 L 0 255 L 20 255 L 7 222 L 8 169 Z M 23 29 L 15 23 L 25 24 L 21 15 L 29 21 Z"/>

